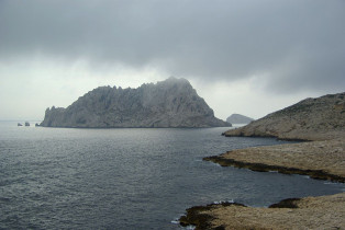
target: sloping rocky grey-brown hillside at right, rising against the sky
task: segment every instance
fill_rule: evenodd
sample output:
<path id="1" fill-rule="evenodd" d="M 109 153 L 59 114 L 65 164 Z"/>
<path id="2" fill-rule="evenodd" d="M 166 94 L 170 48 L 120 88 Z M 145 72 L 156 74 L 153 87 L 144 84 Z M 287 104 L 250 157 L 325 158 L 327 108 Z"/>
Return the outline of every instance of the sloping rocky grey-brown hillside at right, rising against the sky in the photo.
<path id="1" fill-rule="evenodd" d="M 224 135 L 301 140 L 344 137 L 345 93 L 305 99 L 242 128 L 225 131 Z"/>

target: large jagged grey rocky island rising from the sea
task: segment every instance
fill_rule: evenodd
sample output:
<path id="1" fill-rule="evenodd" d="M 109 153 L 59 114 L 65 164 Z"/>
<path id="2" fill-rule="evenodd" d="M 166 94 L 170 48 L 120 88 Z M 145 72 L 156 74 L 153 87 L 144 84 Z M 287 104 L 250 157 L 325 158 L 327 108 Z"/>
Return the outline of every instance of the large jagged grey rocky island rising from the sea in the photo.
<path id="1" fill-rule="evenodd" d="M 47 108 L 45 127 L 218 127 L 231 126 L 185 79 L 169 78 L 137 89 L 97 88 L 67 108 Z"/>

